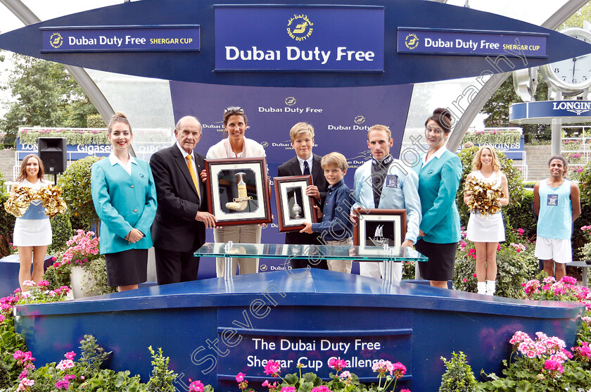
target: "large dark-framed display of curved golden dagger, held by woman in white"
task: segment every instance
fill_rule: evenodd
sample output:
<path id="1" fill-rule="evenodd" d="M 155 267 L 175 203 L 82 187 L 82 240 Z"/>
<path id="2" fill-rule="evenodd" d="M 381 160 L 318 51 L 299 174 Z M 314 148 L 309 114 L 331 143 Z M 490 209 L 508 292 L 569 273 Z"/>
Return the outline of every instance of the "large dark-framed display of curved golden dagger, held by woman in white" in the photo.
<path id="1" fill-rule="evenodd" d="M 265 158 L 205 159 L 205 170 L 218 226 L 272 222 Z"/>

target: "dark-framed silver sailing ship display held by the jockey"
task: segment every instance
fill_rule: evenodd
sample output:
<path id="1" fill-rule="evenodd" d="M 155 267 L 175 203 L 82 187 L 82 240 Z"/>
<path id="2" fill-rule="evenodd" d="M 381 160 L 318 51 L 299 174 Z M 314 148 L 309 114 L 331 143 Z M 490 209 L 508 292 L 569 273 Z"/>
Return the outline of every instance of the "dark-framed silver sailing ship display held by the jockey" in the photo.
<path id="1" fill-rule="evenodd" d="M 379 253 L 384 245 L 400 246 L 406 235 L 406 210 L 357 208 L 353 227 L 353 244 L 360 253 Z"/>

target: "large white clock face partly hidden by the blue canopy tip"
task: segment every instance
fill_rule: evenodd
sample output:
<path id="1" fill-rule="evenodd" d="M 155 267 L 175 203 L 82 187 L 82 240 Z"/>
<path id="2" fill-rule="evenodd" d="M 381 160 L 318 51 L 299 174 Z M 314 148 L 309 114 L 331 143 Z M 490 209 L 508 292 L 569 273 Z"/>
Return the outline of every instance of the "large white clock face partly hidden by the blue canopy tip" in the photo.
<path id="1" fill-rule="evenodd" d="M 591 43 L 591 33 L 578 27 L 569 28 L 562 33 Z M 550 82 L 561 89 L 576 91 L 591 86 L 591 53 L 548 64 L 545 68 Z"/>

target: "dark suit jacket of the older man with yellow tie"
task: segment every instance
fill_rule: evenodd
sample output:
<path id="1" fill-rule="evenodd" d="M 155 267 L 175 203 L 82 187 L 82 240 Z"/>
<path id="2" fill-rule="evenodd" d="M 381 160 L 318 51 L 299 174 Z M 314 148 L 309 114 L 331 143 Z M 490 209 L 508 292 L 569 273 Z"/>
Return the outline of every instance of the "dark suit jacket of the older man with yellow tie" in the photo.
<path id="1" fill-rule="evenodd" d="M 197 176 L 205 168 L 203 156 L 193 150 Z M 154 248 L 194 252 L 205 243 L 205 224 L 195 220 L 197 211 L 207 211 L 207 191 L 201 179 L 199 192 L 177 144 L 157 151 L 150 158 L 158 196 L 158 210 L 152 225 Z"/>

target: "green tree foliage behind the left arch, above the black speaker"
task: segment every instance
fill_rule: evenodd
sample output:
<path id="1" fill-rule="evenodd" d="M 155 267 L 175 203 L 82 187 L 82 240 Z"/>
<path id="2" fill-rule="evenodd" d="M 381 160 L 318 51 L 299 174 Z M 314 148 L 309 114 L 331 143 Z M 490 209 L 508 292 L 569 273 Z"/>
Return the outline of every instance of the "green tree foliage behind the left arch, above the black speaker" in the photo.
<path id="1" fill-rule="evenodd" d="M 4 103 L 0 120 L 5 143 L 14 142 L 18 127 L 86 127 L 87 115 L 97 113 L 63 65 L 20 54 L 13 62 L 8 89 L 15 101 Z"/>

